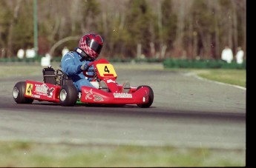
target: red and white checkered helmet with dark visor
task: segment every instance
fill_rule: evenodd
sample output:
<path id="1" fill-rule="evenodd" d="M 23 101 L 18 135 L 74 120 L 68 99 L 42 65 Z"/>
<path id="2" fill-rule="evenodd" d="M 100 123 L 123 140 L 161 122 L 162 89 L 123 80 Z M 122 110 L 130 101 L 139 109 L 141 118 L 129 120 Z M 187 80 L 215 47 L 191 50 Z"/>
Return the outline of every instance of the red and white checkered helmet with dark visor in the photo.
<path id="1" fill-rule="evenodd" d="M 85 34 L 80 38 L 78 47 L 83 50 L 89 57 L 95 60 L 103 47 L 103 39 L 101 36 L 91 33 Z"/>

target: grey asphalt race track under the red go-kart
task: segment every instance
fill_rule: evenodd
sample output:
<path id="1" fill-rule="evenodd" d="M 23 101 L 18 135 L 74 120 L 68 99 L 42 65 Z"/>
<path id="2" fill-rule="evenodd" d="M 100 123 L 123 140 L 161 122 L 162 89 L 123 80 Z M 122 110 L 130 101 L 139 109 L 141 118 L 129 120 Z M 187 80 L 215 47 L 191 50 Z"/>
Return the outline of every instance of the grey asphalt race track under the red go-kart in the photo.
<path id="1" fill-rule="evenodd" d="M 13 86 L 41 75 L 0 78 L 0 140 L 246 149 L 246 90 L 191 73 L 116 70 L 117 81 L 149 85 L 154 103 L 61 107 L 16 104 Z"/>

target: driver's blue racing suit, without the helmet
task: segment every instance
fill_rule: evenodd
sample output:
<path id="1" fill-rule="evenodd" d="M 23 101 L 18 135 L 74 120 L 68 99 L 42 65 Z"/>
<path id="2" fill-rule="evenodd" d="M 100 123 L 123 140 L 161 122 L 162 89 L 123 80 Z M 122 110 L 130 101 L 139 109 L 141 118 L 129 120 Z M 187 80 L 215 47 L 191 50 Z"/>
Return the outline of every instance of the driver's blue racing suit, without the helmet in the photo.
<path id="1" fill-rule="evenodd" d="M 66 53 L 62 58 L 62 71 L 72 79 L 74 86 L 79 92 L 81 92 L 82 86 L 93 87 L 93 85 L 90 83 L 93 78 L 87 78 L 81 70 L 82 64 L 85 64 L 85 70 L 87 68 L 88 70 L 93 70 L 93 66 L 88 66 L 90 62 L 91 61 L 82 60 L 82 56 L 74 51 Z M 93 72 L 88 72 L 88 75 L 93 75 Z"/>

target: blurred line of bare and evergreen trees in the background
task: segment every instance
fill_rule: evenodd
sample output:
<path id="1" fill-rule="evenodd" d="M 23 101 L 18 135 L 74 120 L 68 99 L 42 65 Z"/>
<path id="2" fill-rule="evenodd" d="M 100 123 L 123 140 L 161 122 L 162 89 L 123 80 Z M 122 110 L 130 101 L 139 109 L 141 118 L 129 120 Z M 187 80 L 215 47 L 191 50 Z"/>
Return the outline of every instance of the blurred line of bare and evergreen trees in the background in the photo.
<path id="1" fill-rule="evenodd" d="M 1 58 L 33 47 L 33 2 L 0 1 Z M 108 58 L 219 59 L 226 45 L 246 53 L 246 0 L 38 0 L 37 20 L 42 56 L 73 50 L 85 33 L 102 35 Z"/>

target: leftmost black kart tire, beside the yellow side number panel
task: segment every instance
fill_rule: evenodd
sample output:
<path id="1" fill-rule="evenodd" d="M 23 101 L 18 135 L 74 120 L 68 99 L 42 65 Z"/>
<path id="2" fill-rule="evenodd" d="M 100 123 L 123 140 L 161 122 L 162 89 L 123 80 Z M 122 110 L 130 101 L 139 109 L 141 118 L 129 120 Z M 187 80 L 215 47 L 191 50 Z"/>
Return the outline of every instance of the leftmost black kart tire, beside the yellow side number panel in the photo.
<path id="1" fill-rule="evenodd" d="M 24 93 L 26 90 L 26 82 L 19 81 L 13 87 L 13 98 L 17 104 L 32 104 L 34 99 L 33 98 L 26 98 L 24 97 Z"/>

